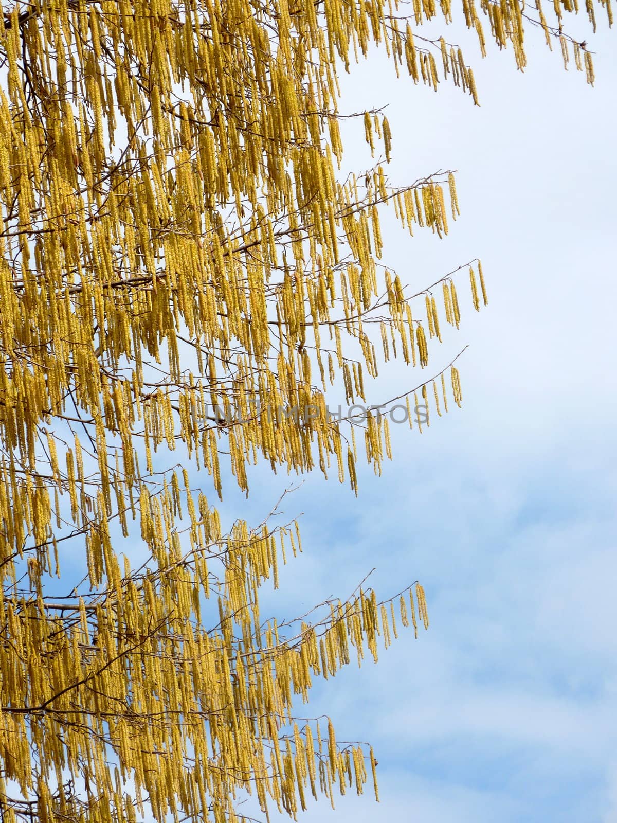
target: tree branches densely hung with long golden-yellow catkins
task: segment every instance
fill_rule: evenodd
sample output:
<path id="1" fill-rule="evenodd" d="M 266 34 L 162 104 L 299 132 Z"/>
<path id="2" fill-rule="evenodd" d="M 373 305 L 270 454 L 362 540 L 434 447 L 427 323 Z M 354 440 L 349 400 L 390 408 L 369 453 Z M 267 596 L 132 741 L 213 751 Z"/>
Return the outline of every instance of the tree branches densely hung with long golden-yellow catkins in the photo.
<path id="1" fill-rule="evenodd" d="M 523 69 L 531 30 L 592 83 L 587 43 L 563 27 L 577 0 L 549 5 L 463 0 L 462 21 L 482 56 L 494 40 Z M 594 30 L 597 9 L 586 0 Z M 373 168 L 341 172 L 338 85 L 379 47 L 397 75 L 477 103 L 461 49 L 432 34 L 455 14 L 449 0 L 0 5 L 6 823 L 234 823 L 245 793 L 295 816 L 369 775 L 377 792 L 372 749 L 297 703 L 377 659 L 397 625 L 427 626 L 422 587 L 382 602 L 361 585 L 264 621 L 258 590 L 299 551 L 297 526 L 226 532 L 211 499 L 230 474 L 248 491 L 259 461 L 353 489 L 364 453 L 379 472 L 387 415 L 351 407 L 392 356 L 420 376 L 383 409 L 421 429 L 460 404 L 457 366 L 432 370 L 429 348 L 458 328 L 457 286 L 486 303 L 480 261 L 414 292 L 380 232 L 389 208 L 409 235 L 446 235 L 454 176 L 392 184 L 377 109 L 355 115 Z M 349 413 L 332 416 L 332 392 Z"/>

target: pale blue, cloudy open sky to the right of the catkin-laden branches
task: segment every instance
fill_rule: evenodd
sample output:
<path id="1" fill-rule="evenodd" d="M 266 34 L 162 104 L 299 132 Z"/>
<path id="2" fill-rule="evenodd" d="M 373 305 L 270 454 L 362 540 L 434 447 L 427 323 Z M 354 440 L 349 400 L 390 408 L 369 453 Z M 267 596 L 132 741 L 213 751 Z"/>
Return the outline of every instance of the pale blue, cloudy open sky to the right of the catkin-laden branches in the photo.
<path id="1" fill-rule="evenodd" d="M 613 37 L 593 41 L 593 89 L 532 30 L 525 74 L 468 47 L 480 108 L 396 81 L 378 55 L 344 78 L 342 111 L 388 105 L 392 181 L 457 170 L 448 238 L 385 223 L 384 263 L 419 291 L 480 257 L 489 306 L 460 299 L 461 331 L 434 356 L 441 368 L 469 344 L 462 409 L 422 435 L 392 425 L 394 460 L 382 477 L 359 469 L 357 499 L 317 476 L 285 499 L 304 512 L 304 554 L 276 616 L 376 567 L 380 597 L 420 579 L 431 620 L 313 689 L 308 714 L 373 743 L 381 802 L 322 800 L 304 823 L 617 823 Z M 394 363 L 367 400 L 415 377 Z M 257 521 L 288 483 L 257 469 L 222 512 Z"/>

